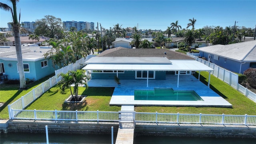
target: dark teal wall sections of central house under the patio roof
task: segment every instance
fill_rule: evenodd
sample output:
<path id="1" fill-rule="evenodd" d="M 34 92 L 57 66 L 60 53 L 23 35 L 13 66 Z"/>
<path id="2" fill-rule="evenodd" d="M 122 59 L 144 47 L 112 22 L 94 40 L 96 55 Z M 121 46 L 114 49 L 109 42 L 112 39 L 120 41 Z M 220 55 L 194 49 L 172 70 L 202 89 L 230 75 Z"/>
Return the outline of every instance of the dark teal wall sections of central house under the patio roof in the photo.
<path id="1" fill-rule="evenodd" d="M 116 73 L 92 73 L 92 79 L 107 79 L 114 80 Z M 120 80 L 135 80 L 135 71 L 124 71 L 124 73 L 118 73 Z M 156 71 L 155 80 L 165 80 L 165 71 Z"/>

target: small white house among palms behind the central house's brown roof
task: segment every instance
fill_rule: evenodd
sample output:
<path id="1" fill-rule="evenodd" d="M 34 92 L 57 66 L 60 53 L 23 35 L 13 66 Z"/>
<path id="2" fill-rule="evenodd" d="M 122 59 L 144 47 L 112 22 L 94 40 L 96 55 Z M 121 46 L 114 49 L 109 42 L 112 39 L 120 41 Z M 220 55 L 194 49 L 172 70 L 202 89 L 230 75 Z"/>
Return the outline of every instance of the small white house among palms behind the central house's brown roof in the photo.
<path id="1" fill-rule="evenodd" d="M 148 40 L 150 42 L 152 42 L 153 38 L 142 38 L 142 40 Z M 123 48 L 132 48 L 132 45 L 130 45 L 130 42 L 132 42 L 132 38 L 116 38 L 116 40 L 114 42 L 112 42 L 112 44 L 114 45 L 114 47 L 123 47 Z"/>

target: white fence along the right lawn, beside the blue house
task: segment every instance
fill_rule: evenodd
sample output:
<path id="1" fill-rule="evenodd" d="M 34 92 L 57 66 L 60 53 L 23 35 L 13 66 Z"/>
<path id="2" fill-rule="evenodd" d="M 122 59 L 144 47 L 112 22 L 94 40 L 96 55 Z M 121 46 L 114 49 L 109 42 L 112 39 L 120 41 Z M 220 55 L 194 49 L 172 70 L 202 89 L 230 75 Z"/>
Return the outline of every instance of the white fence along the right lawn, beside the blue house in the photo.
<path id="1" fill-rule="evenodd" d="M 238 74 L 235 74 L 234 72 L 231 72 L 230 70 L 226 70 L 225 68 L 222 68 L 220 66 L 217 66 L 216 64 L 213 64 L 211 62 L 208 62 L 206 60 L 202 60 L 201 58 L 198 58 L 196 56 L 193 56 L 192 54 L 187 53 L 188 56 L 191 56 L 193 58 L 196 58 L 198 62 L 201 62 L 205 64 L 206 66 L 209 66 L 210 68 L 214 69 L 213 75 L 219 78 L 220 80 L 226 82 L 242 94 L 244 94 L 246 97 L 250 98 L 254 102 L 256 102 L 256 94 L 244 86 L 240 85 L 238 83 Z"/>

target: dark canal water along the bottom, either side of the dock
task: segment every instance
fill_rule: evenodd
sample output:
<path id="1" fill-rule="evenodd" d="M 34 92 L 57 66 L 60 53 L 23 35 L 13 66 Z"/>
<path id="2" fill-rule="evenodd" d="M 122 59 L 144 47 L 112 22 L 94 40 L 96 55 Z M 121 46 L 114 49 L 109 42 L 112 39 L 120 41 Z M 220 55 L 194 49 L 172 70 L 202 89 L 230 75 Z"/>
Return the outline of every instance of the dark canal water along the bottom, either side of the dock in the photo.
<path id="1" fill-rule="evenodd" d="M 116 141 L 116 134 L 114 142 Z M 50 144 L 111 144 L 109 134 L 52 134 Z M 173 136 L 136 136 L 134 144 L 255 144 L 253 138 L 198 138 Z M 0 144 L 46 144 L 45 133 L 12 132 L 0 135 Z"/>

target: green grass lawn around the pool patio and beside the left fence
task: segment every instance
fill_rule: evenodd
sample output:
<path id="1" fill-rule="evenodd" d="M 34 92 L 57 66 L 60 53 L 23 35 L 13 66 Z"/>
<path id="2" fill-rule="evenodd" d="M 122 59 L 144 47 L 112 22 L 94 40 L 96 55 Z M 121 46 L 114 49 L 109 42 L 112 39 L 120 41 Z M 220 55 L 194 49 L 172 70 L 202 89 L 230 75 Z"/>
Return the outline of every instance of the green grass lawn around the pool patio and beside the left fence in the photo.
<path id="1" fill-rule="evenodd" d="M 208 72 L 200 73 L 200 80 L 207 84 Z M 195 74 L 198 77 L 198 73 Z M 48 78 L 47 78 L 48 79 Z M 47 80 L 45 79 L 45 80 Z M 40 82 L 29 85 L 28 90 L 18 90 L 17 85 L 1 84 L 0 102 L 4 102 L 1 107 L 0 119 L 8 119 L 7 105 L 11 104 L 21 96 L 28 93 L 32 88 L 35 88 Z M 215 76 L 211 75 L 210 88 L 217 92 L 233 105 L 233 108 L 211 108 L 211 107 L 161 107 L 161 106 L 138 106 L 135 107 L 136 112 L 159 112 L 159 113 L 189 113 L 189 114 L 236 114 L 236 115 L 256 115 L 256 103 L 246 98 L 243 94 L 222 82 Z M 87 111 L 118 111 L 120 106 L 109 106 L 109 102 L 113 93 L 113 88 L 93 88 L 85 90 L 84 87 L 79 87 L 79 95 L 87 95 L 83 103 L 80 104 L 65 104 L 64 100 L 70 96 L 69 90 L 61 94 L 59 88 L 54 86 L 44 93 L 38 100 L 28 106 L 28 110 L 87 110 Z M 3 108 L 3 109 L 2 109 Z"/>

